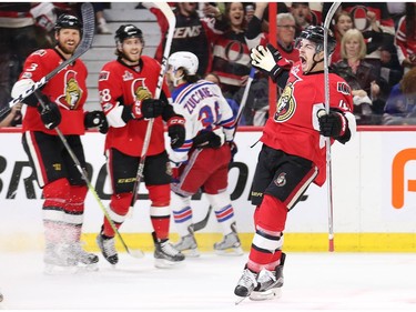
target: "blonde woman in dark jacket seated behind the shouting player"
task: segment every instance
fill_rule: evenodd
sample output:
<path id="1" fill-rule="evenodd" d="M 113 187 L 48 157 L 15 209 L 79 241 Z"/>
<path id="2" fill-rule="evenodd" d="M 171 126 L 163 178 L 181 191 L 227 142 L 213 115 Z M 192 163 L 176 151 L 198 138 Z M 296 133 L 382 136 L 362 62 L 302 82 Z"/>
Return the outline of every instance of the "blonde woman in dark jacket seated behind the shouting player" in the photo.
<path id="1" fill-rule="evenodd" d="M 341 42 L 341 56 L 342 60 L 333 64 L 333 68 L 352 89 L 357 123 L 373 123 L 372 115 L 383 113 L 385 101 L 382 88 L 388 91 L 388 85 L 381 78 L 379 68 L 364 60 L 366 46 L 359 30 L 349 29 L 345 32 Z"/>

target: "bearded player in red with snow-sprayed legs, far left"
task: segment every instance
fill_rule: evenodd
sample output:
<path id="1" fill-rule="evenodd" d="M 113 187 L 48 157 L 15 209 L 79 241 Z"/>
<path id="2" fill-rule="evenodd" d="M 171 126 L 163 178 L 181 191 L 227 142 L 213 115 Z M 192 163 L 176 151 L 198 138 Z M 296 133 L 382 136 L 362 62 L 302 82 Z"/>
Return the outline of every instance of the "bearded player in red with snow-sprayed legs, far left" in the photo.
<path id="1" fill-rule="evenodd" d="M 54 29 L 57 46 L 28 57 L 20 79 L 13 85 L 13 98 L 75 51 L 82 36 L 82 22 L 74 16 L 62 14 Z M 85 128 L 99 127 L 105 131 L 106 120 L 102 111 L 84 111 L 88 95 L 85 80 L 87 68 L 78 59 L 41 89 L 38 97 L 43 99 L 43 105 L 34 94 L 23 100 L 27 105 L 22 108 L 22 142 L 38 183 L 43 189 L 44 262 L 50 273 L 62 268 L 72 270 L 81 264 L 97 266 L 99 261 L 80 243 L 87 183 L 54 130 L 59 125 L 82 168 L 87 168 L 80 135 L 84 134 Z"/>

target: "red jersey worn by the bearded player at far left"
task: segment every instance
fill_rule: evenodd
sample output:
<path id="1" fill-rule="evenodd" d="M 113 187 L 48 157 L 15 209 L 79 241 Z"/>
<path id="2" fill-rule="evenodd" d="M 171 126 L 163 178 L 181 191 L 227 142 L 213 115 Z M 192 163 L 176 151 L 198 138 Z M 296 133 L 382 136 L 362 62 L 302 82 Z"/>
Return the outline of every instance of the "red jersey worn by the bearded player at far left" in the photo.
<path id="1" fill-rule="evenodd" d="M 39 81 L 64 59 L 57 50 L 38 50 L 26 60 L 20 79 Z M 87 67 L 78 59 L 57 73 L 42 89 L 42 93 L 55 102 L 61 111 L 62 121 L 59 129 L 63 134 L 84 134 L 84 111 L 87 100 Z M 42 131 L 57 134 L 55 130 L 48 130 L 40 119 L 37 108 L 27 107 L 22 121 L 23 131 Z"/>

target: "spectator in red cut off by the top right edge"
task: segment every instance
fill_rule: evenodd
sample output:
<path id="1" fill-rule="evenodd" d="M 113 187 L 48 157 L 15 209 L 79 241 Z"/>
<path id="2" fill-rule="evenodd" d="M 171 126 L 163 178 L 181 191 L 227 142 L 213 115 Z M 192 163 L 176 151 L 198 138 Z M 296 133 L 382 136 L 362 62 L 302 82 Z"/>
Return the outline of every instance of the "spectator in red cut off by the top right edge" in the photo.
<path id="1" fill-rule="evenodd" d="M 395 36 L 397 57 L 405 73 L 416 66 L 416 3 L 406 3 L 406 14 L 398 22 Z"/>

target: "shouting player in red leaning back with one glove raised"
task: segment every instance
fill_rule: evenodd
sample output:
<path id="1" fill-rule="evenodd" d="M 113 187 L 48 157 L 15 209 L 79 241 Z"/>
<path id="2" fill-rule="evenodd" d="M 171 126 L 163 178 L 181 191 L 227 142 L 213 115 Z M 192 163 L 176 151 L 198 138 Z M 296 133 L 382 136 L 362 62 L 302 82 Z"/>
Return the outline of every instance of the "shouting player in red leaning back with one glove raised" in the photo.
<path id="1" fill-rule="evenodd" d="M 332 34 L 327 54 L 335 49 Z M 307 187 L 326 179 L 325 137 L 346 143 L 355 133 L 353 99 L 347 83 L 338 76 L 324 74 L 324 29 L 310 26 L 296 40 L 300 61 L 290 71 L 278 51 L 267 44 L 252 49 L 252 64 L 265 71 L 284 88 L 263 130 L 262 150 L 253 179 L 251 201 L 255 234 L 248 261 L 234 290 L 243 300 L 273 298 L 283 285 L 283 231 L 291 211 Z M 329 112 L 325 107 L 325 83 L 329 84 Z M 319 113 L 321 115 L 321 113 Z"/>

